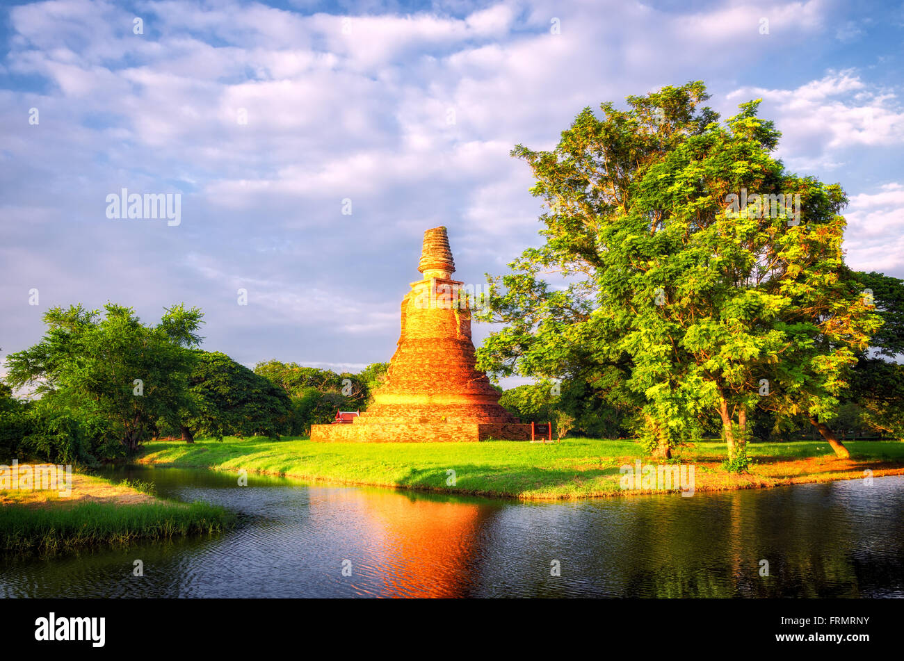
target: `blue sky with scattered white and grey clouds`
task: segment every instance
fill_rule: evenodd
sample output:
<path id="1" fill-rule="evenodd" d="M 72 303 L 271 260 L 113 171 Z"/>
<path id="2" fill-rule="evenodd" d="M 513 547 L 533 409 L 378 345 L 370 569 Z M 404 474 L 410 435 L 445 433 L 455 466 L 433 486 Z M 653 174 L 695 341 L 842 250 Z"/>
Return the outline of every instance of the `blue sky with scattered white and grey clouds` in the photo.
<path id="1" fill-rule="evenodd" d="M 110 300 L 198 305 L 250 366 L 388 360 L 424 229 L 468 283 L 539 244 L 514 144 L 697 79 L 723 118 L 763 98 L 848 192 L 849 263 L 904 277 L 902 43 L 900 3 L 4 2 L 0 358 Z M 181 222 L 108 219 L 122 189 Z"/>

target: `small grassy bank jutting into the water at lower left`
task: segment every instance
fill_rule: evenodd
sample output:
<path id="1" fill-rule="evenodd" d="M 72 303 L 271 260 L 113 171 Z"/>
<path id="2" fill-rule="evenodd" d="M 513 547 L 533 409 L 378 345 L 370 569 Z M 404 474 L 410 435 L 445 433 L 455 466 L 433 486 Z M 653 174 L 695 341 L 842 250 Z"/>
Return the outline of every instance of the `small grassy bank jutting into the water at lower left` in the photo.
<path id="1" fill-rule="evenodd" d="M 0 491 L 0 551 L 53 553 L 103 544 L 219 532 L 222 507 L 177 503 L 143 492 L 147 485 L 73 474 L 71 493 Z"/>

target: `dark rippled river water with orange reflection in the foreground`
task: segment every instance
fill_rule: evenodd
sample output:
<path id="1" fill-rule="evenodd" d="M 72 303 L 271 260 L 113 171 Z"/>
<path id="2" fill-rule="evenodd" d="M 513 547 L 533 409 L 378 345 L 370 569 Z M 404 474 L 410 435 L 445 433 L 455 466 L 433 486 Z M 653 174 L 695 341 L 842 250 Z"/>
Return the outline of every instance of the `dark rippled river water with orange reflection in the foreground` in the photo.
<path id="1" fill-rule="evenodd" d="M 904 596 L 901 476 L 525 504 L 254 476 L 240 487 L 235 475 L 205 470 L 114 475 L 228 507 L 238 525 L 127 549 L 5 557 L 0 596 Z M 135 560 L 143 577 L 133 576 Z"/>

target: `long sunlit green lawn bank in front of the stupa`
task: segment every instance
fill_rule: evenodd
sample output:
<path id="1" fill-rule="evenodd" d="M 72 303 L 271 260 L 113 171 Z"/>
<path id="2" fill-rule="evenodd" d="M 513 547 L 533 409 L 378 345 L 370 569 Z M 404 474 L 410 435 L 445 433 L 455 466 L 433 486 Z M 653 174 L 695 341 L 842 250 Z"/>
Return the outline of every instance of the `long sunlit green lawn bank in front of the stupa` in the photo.
<path id="1" fill-rule="evenodd" d="M 676 452 L 674 462 L 695 466 L 695 489 L 750 489 L 800 482 L 904 474 L 904 443 L 848 442 L 852 459 L 835 459 L 825 442 L 754 443 L 749 474 L 720 469 L 725 446 L 703 442 Z M 619 468 L 645 463 L 631 441 L 567 439 L 553 444 L 314 443 L 227 437 L 223 442 L 154 442 L 144 463 L 248 470 L 344 484 L 429 489 L 509 498 L 592 498 L 650 490 L 620 488 Z M 449 484 L 454 470 L 455 483 Z"/>

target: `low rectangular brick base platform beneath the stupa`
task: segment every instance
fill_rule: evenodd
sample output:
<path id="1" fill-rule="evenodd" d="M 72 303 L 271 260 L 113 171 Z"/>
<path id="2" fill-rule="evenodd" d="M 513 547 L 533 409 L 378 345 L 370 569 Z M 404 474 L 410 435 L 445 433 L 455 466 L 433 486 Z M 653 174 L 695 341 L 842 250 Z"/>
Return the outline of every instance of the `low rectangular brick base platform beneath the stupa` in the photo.
<path id="1" fill-rule="evenodd" d="M 315 442 L 480 442 L 530 441 L 531 425 L 521 423 L 312 424 Z"/>

